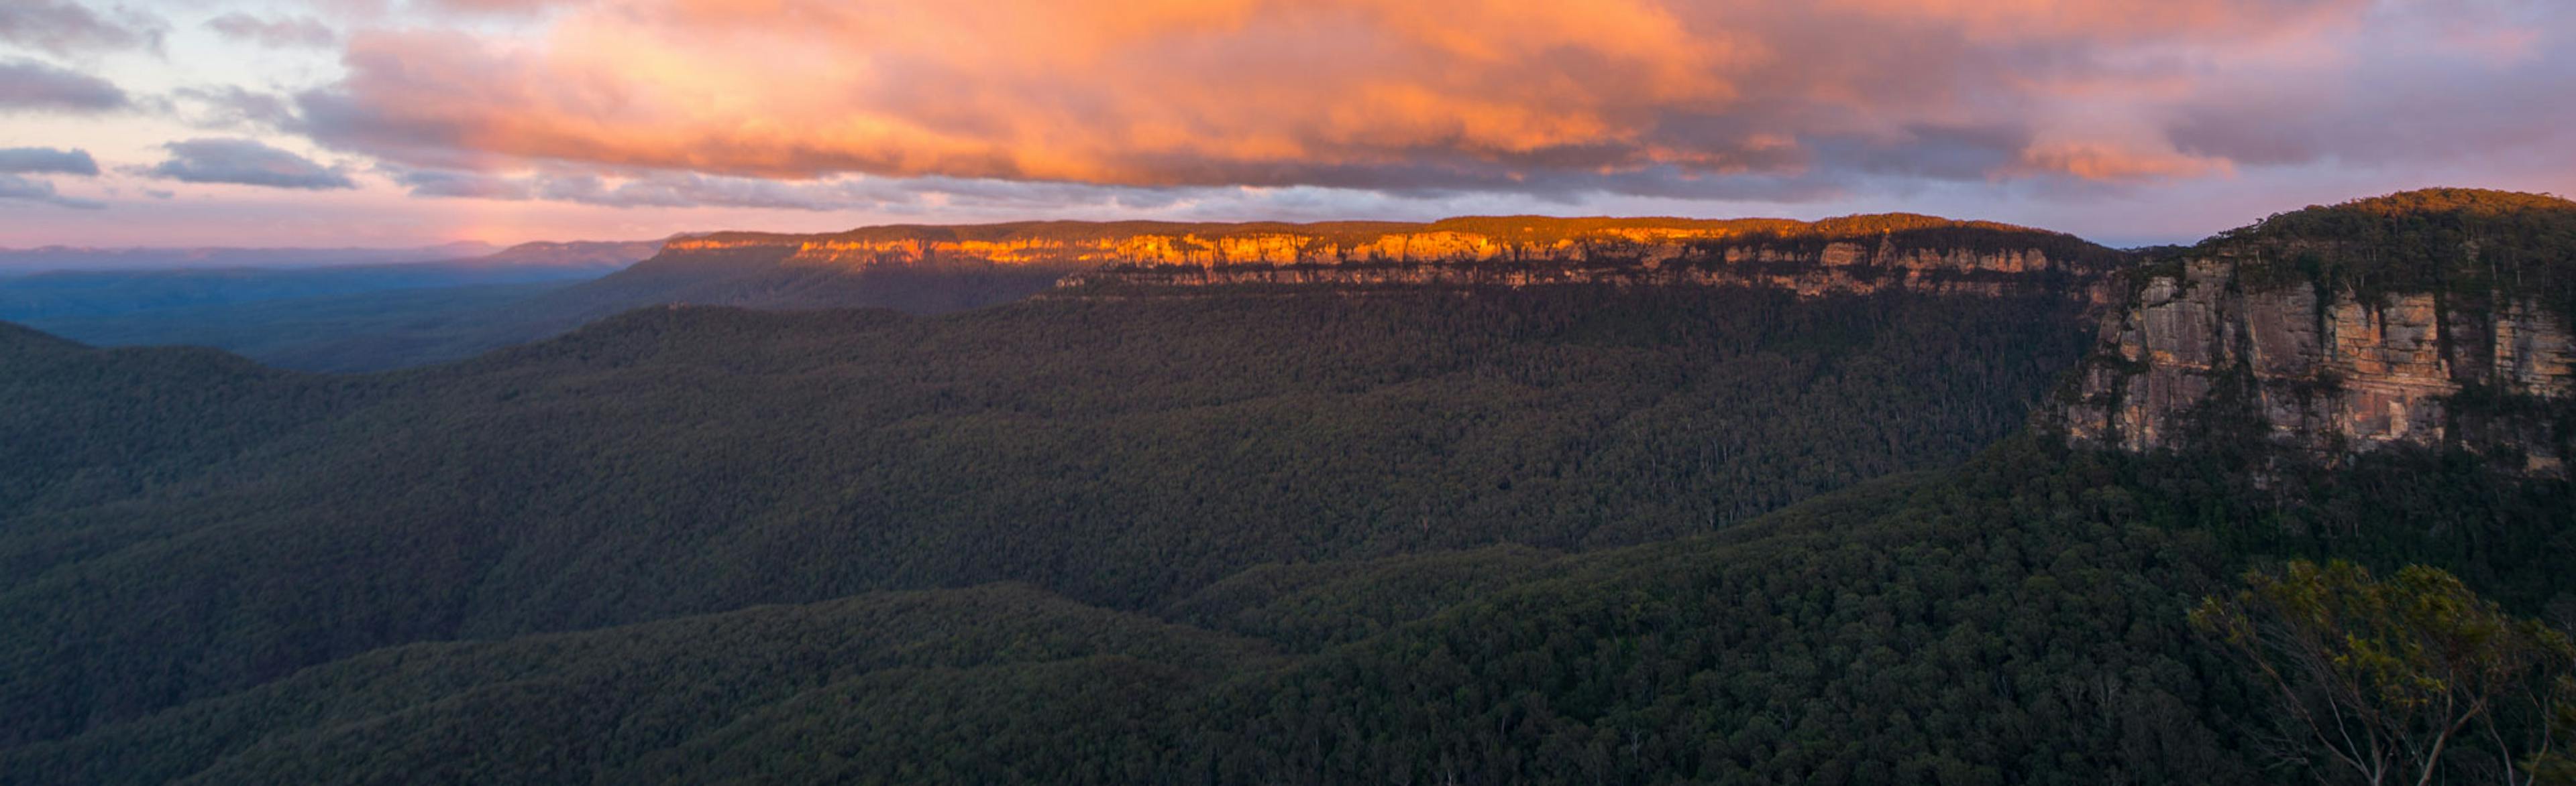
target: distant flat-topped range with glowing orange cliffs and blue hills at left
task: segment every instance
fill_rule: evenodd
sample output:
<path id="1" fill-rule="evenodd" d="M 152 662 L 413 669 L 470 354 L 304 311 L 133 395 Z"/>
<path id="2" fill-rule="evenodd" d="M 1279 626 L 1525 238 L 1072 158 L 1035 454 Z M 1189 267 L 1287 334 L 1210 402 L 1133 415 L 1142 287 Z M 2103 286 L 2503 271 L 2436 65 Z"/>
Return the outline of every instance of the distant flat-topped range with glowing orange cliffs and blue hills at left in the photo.
<path id="1" fill-rule="evenodd" d="M 526 247 L 510 253 L 520 250 Z M 227 348 L 289 369 L 379 371 L 456 361 L 649 304 L 943 314 L 1036 294 L 1113 296 L 1216 283 L 1368 289 L 1623 281 L 1757 283 L 1803 294 L 1886 286 L 2002 294 L 2105 281 L 2120 260 L 2120 253 L 2069 235 L 1914 214 L 1829 222 L 1466 216 L 1430 224 L 899 224 L 827 235 L 672 237 L 657 255 L 598 281 L 459 291 L 451 299 L 404 296 L 386 309 L 399 314 L 397 322 L 374 320 L 348 330 L 312 327 L 319 327 L 317 314 L 348 312 L 355 307 L 350 302 L 312 304 L 289 317 L 180 317 L 294 325 L 291 343 L 255 332 Z M 175 332 L 134 335 L 98 322 L 33 325 L 113 343 Z"/>

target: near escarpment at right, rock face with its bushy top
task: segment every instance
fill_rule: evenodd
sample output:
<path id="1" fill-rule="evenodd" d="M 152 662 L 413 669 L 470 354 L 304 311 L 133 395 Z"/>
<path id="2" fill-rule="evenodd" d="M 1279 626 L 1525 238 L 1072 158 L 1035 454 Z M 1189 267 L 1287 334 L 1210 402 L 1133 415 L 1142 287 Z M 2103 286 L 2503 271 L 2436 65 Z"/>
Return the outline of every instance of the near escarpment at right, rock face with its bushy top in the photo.
<path id="1" fill-rule="evenodd" d="M 2133 271 L 2048 417 L 2125 451 L 2251 423 L 2316 461 L 2463 448 L 2563 477 L 2576 235 L 2555 227 L 2576 227 L 2576 204 L 2452 193 L 2465 204 L 2403 209 L 2419 198 L 2275 216 Z"/>

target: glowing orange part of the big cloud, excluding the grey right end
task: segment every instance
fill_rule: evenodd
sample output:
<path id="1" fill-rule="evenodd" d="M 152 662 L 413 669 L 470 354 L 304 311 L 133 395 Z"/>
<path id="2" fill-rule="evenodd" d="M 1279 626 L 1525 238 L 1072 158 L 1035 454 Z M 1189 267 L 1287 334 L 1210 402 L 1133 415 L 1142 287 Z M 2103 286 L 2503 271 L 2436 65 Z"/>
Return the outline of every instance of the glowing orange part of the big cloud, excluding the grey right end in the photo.
<path id="1" fill-rule="evenodd" d="M 301 129 L 415 168 L 760 178 L 1687 193 L 1710 173 L 1868 175 L 1914 147 L 1940 165 L 1911 173 L 2190 178 L 2228 162 L 2066 142 L 2045 106 L 2169 101 L 2190 82 L 2138 75 L 2141 52 L 2290 36 L 2362 8 L 636 0 L 564 8 L 520 41 L 355 34 L 348 80 L 301 95 Z"/>

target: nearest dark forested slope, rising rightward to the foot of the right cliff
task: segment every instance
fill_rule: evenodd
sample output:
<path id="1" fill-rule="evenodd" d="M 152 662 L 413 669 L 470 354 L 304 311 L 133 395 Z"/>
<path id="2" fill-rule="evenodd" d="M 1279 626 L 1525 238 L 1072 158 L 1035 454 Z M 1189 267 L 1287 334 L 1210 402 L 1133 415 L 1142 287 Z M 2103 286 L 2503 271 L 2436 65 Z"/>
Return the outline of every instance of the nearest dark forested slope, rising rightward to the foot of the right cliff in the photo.
<path id="1" fill-rule="evenodd" d="M 2231 513 L 2205 490 L 2159 487 L 2177 472 L 2177 456 L 2014 438 L 1716 533 L 1273 564 L 1146 613 L 992 585 L 412 644 L 23 745 L 0 768 L 108 783 L 2311 781 L 2275 758 L 2267 688 L 2187 626 L 2264 557 L 2228 549 Z M 2548 492 L 2566 510 L 2566 490 Z M 2416 521 L 2481 515 L 2447 510 Z M 2272 554 L 2411 559 L 2336 541 Z M 2450 773 L 2486 781 L 2481 745 L 2463 740 Z"/>

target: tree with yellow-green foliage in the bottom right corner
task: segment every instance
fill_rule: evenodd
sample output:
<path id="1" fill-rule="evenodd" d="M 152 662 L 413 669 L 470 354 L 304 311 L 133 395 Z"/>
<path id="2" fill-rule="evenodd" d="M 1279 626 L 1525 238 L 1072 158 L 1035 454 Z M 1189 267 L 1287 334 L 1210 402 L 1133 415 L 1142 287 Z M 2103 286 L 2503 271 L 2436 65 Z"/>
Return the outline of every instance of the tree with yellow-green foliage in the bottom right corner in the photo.
<path id="1" fill-rule="evenodd" d="M 2550 745 L 2543 716 L 2576 662 L 2566 634 L 2421 564 L 2375 580 L 2349 562 L 2290 562 L 2244 580 L 2205 598 L 2192 626 L 2277 691 L 2285 758 L 2324 755 L 2326 783 L 2434 783 L 2445 771 L 2530 783 L 2517 763 Z"/>

